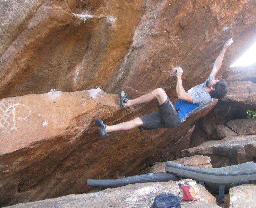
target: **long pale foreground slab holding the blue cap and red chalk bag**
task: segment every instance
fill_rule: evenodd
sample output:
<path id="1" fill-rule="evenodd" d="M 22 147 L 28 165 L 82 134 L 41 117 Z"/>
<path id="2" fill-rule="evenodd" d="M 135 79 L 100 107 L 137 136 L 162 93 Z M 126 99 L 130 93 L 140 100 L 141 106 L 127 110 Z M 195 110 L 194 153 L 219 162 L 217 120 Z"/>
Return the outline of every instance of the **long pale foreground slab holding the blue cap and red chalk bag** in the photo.
<path id="1" fill-rule="evenodd" d="M 186 179 L 192 181 L 190 179 Z M 20 203 L 10 208 L 34 208 L 34 207 L 69 207 L 69 208 L 103 208 L 103 207 L 150 207 L 155 197 L 162 193 L 179 194 L 178 183 L 180 181 L 137 183 L 124 187 L 105 189 L 97 193 L 68 195 L 56 199 L 46 199 L 37 202 Z M 216 199 L 202 186 L 197 184 L 201 198 L 193 203 L 183 204 L 182 208 L 218 208 Z M 187 203 L 183 202 L 183 203 Z"/>

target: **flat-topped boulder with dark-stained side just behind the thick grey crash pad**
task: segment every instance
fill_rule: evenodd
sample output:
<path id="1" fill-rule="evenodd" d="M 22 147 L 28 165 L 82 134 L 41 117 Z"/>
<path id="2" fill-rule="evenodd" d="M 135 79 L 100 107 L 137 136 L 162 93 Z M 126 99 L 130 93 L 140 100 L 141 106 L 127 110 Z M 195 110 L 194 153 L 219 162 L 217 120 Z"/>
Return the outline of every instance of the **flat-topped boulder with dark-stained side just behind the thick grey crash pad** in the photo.
<path id="1" fill-rule="evenodd" d="M 222 140 L 210 140 L 198 147 L 181 151 L 182 157 L 192 155 L 207 155 L 211 158 L 213 167 L 236 165 L 251 161 L 245 152 L 245 145 L 256 141 L 256 135 L 228 136 Z"/>

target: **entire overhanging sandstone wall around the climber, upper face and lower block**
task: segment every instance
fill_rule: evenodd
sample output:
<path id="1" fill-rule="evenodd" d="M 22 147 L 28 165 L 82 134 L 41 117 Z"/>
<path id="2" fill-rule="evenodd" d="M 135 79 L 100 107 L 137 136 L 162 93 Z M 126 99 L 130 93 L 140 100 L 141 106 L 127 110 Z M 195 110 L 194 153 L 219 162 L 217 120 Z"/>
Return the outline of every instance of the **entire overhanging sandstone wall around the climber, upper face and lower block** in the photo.
<path id="1" fill-rule="evenodd" d="M 232 37 L 221 77 L 255 41 L 255 10 L 254 0 L 1 1 L 1 205 L 84 193 L 88 178 L 175 159 L 173 144 L 217 101 L 179 128 L 101 138 L 96 117 L 115 124 L 157 108 L 126 112 L 100 89 L 135 98 L 162 87 L 176 102 L 173 67 L 186 90 L 204 82 Z"/>

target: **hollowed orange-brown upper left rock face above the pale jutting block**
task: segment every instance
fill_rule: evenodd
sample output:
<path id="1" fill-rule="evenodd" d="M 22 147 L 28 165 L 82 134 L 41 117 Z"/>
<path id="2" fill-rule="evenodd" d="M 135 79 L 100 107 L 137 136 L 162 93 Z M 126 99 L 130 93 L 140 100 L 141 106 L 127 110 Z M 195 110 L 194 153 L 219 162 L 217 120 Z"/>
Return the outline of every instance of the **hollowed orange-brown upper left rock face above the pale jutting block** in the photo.
<path id="1" fill-rule="evenodd" d="M 0 97 L 110 83 L 144 2 L 1 2 Z M 104 74 L 104 75 L 103 75 Z"/>

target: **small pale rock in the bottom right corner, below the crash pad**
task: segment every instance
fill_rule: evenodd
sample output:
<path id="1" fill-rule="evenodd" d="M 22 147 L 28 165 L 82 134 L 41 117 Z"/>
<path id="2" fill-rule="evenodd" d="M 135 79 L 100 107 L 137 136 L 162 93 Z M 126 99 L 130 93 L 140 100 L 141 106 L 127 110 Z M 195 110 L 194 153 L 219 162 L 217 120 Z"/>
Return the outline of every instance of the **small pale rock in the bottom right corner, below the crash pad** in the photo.
<path id="1" fill-rule="evenodd" d="M 229 189 L 229 208 L 254 207 L 256 185 L 240 185 Z"/>

